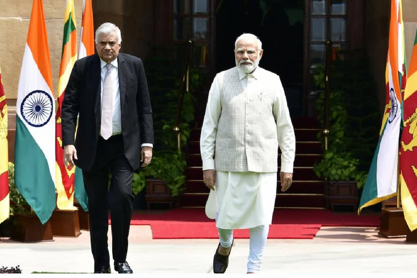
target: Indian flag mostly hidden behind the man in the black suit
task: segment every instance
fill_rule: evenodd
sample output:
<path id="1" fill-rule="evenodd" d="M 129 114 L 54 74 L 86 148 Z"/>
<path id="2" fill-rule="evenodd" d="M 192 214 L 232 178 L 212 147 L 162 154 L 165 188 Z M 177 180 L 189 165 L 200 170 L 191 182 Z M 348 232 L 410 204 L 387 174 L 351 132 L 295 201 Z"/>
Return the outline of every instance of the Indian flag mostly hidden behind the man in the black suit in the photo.
<path id="1" fill-rule="evenodd" d="M 84 58 L 94 54 L 94 23 L 91 0 L 83 1 L 83 19 L 81 21 L 81 39 L 78 50 L 78 58 Z M 82 170 L 76 167 L 75 196 L 85 212 L 88 212 L 88 198 L 84 188 Z"/>

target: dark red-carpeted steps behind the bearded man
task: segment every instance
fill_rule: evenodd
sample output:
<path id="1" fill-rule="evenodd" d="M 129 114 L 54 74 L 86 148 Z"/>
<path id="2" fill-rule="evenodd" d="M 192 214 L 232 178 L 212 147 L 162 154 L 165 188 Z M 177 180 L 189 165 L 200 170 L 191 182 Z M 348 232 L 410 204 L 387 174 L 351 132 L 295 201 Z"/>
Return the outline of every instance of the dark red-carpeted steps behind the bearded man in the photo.
<path id="1" fill-rule="evenodd" d="M 324 182 L 313 171 L 314 162 L 322 157 L 321 144 L 316 137 L 320 125 L 313 117 L 294 118 L 293 124 L 297 141 L 293 185 L 283 193 L 281 183 L 277 181 L 275 207 L 325 208 Z M 200 131 L 199 128 L 192 130 L 187 146 L 186 189 L 180 200 L 182 207 L 203 207 L 209 192 L 202 181 Z"/>

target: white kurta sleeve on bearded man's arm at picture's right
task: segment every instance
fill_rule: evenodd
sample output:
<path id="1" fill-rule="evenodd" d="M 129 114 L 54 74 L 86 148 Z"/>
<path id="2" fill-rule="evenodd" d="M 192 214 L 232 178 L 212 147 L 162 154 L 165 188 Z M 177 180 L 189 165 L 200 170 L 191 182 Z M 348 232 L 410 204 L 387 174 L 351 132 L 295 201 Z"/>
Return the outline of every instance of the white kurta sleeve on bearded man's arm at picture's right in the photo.
<path id="1" fill-rule="evenodd" d="M 281 172 L 293 173 L 296 145 L 294 127 L 290 118 L 290 110 L 288 109 L 284 88 L 278 76 L 273 114 L 276 121 L 278 144 L 282 153 Z"/>

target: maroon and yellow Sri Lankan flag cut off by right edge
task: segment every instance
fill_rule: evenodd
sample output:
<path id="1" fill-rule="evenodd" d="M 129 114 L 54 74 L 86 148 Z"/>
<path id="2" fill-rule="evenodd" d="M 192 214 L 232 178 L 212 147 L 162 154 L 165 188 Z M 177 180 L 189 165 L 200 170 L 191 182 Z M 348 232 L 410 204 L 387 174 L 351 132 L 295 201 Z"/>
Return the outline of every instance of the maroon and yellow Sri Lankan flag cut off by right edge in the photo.
<path id="1" fill-rule="evenodd" d="M 417 33 L 404 91 L 404 123 L 400 147 L 401 204 L 408 228 L 417 228 Z M 414 149 L 415 148 L 415 149 Z M 414 151 L 416 152 L 414 154 Z"/>

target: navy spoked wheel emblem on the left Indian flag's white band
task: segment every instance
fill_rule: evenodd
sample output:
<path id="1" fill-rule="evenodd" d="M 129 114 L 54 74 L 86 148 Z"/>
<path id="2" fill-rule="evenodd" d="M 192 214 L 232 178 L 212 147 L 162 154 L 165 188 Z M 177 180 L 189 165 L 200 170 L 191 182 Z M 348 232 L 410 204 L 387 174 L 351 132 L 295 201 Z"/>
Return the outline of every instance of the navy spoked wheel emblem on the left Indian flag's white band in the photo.
<path id="1" fill-rule="evenodd" d="M 52 98 L 44 91 L 33 91 L 22 101 L 20 112 L 25 121 L 32 126 L 45 125 L 52 116 Z"/>

